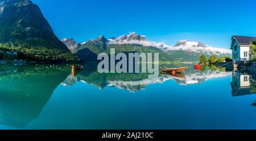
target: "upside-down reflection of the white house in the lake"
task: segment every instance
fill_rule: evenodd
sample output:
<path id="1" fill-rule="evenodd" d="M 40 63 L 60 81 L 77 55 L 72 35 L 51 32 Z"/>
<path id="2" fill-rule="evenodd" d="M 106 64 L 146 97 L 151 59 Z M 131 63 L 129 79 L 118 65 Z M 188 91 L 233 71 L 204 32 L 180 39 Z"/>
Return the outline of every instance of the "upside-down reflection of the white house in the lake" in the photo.
<path id="1" fill-rule="evenodd" d="M 245 72 L 233 71 L 232 82 L 231 82 L 232 96 L 237 97 L 237 96 L 255 94 L 251 90 L 251 86 L 255 85 L 254 83 L 255 81 L 253 81 L 253 76 L 251 74 L 245 73 Z"/>

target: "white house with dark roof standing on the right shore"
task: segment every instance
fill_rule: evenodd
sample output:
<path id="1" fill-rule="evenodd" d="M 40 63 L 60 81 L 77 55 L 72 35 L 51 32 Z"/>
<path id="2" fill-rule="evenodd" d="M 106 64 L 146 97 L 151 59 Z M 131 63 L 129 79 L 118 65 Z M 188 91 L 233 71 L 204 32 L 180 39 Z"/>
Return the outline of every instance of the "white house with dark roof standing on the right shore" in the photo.
<path id="1" fill-rule="evenodd" d="M 232 58 L 234 61 L 250 61 L 250 45 L 256 42 L 255 37 L 232 36 Z"/>

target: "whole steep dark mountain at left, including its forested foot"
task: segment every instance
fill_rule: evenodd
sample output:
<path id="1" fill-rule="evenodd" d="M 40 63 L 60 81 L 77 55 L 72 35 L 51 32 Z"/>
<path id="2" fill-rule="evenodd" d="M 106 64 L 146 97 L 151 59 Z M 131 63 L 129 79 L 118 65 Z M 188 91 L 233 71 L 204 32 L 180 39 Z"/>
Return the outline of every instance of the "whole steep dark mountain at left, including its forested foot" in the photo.
<path id="1" fill-rule="evenodd" d="M 79 60 L 54 34 L 39 7 L 29 0 L 0 0 L 0 48 L 22 59 Z"/>

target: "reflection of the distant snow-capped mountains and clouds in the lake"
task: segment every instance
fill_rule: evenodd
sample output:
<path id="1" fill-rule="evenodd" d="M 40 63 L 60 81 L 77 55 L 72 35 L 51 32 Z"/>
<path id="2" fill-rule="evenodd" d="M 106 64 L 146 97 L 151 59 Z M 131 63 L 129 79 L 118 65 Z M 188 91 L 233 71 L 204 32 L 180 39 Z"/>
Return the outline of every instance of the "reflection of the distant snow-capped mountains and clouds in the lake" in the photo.
<path id="1" fill-rule="evenodd" d="M 226 77 L 232 74 L 232 72 L 226 72 L 221 68 L 212 70 L 209 67 L 205 68 L 204 72 L 202 72 L 189 67 L 184 73 L 160 73 L 155 78 L 148 78 L 149 73 L 99 73 L 97 66 L 89 65 L 88 67 L 90 68 L 80 70 L 75 75 L 69 75 L 61 84 L 73 86 L 76 82 L 84 82 L 97 86 L 99 89 L 111 86 L 128 90 L 129 92 L 136 92 L 145 89 L 150 84 L 163 83 L 168 80 L 174 80 L 179 85 L 191 85 L 201 84 L 212 78 Z"/>

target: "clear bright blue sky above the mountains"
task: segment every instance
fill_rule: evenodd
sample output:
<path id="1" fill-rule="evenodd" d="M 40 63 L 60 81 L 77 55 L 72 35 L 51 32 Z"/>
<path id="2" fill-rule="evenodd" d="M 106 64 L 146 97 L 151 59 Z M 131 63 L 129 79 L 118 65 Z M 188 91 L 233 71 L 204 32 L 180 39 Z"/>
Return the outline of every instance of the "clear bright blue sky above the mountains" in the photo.
<path id="1" fill-rule="evenodd" d="M 231 35 L 256 36 L 254 0 L 32 0 L 60 38 L 84 42 L 137 32 L 169 45 L 196 40 L 229 48 Z"/>

